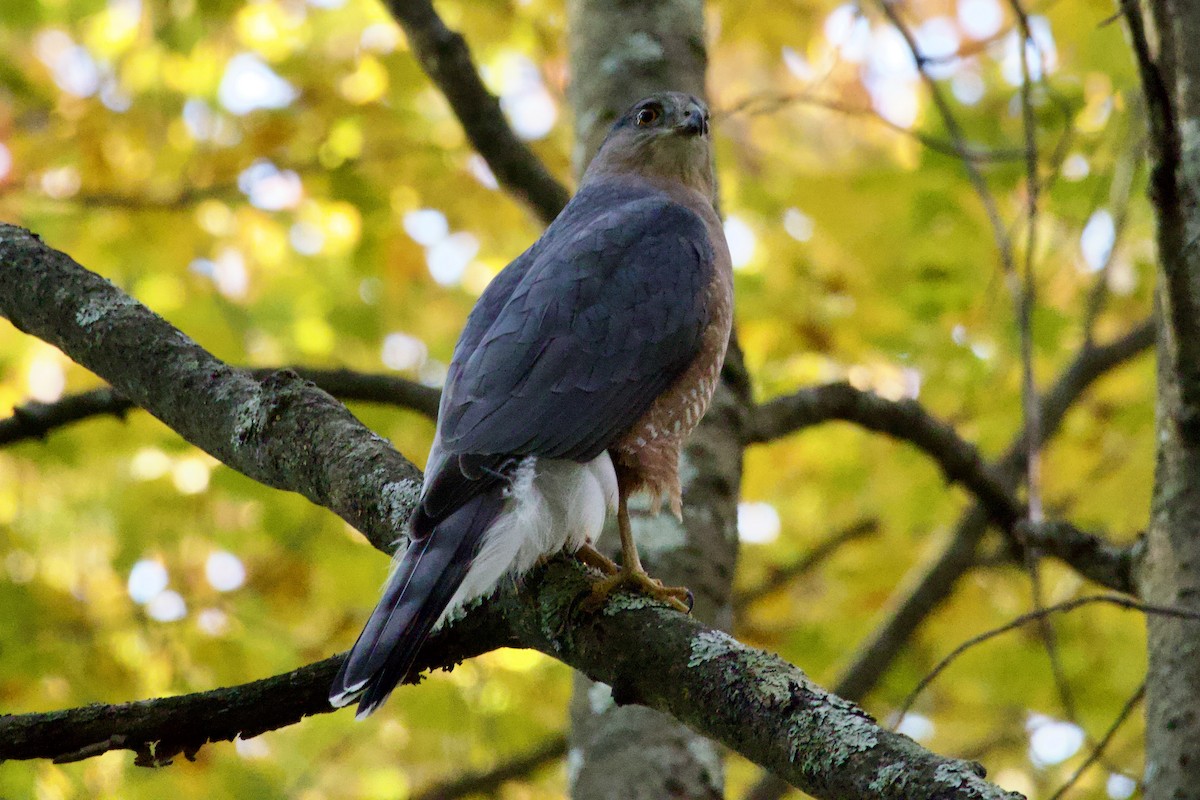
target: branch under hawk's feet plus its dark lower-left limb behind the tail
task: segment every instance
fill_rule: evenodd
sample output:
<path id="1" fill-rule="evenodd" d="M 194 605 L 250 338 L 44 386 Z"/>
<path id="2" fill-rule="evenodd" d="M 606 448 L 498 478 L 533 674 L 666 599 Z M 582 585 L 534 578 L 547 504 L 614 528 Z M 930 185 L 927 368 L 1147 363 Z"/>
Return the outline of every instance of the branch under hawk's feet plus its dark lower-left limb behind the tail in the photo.
<path id="1" fill-rule="evenodd" d="M 984 781 L 978 765 L 935 756 L 884 730 L 778 656 L 691 616 L 630 595 L 614 596 L 600 612 L 582 612 L 578 601 L 593 579 L 577 563 L 556 559 L 532 573 L 520 594 L 502 591 L 431 639 L 421 666 L 451 664 L 518 642 L 608 684 L 618 703 L 670 714 L 815 796 L 1020 796 Z M 264 709 L 278 708 L 292 721 L 329 710 L 325 693 L 337 664 L 329 658 L 217 692 L 0 717 L 0 759 L 86 758 L 134 744 L 146 752 L 149 742 L 156 742 L 157 756 L 187 754 L 204 739 L 260 733 L 266 728 L 252 720 Z M 220 734 L 210 735 L 203 722 Z M 181 724 L 191 735 L 184 742 Z"/>

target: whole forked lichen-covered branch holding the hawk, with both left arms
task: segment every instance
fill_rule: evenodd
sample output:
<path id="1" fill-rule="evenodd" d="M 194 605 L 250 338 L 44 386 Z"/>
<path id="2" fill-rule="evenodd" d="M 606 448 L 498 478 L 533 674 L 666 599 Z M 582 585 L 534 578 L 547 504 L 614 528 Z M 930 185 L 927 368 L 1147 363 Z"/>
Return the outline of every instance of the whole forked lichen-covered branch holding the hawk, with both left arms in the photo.
<path id="1" fill-rule="evenodd" d="M 336 401 L 290 372 L 256 380 L 222 363 L 109 282 L 12 225 L 0 225 L 0 312 L 188 441 L 269 486 L 300 491 L 367 531 L 377 547 L 386 549 L 403 529 L 416 497 L 416 469 Z M 520 594 L 502 591 L 439 633 L 426 658 L 452 663 L 504 644 L 535 648 L 611 685 L 618 703 L 671 714 L 818 795 L 1016 796 L 984 782 L 974 765 L 881 729 L 778 657 L 644 597 L 618 596 L 601 612 L 583 614 L 577 601 L 590 589 L 586 569 L 560 558 L 528 576 Z M 172 750 L 187 754 L 212 738 L 196 721 L 203 711 L 212 715 L 214 735 L 228 736 L 263 729 L 238 722 L 232 706 L 256 715 L 287 708 L 284 716 L 296 720 L 325 710 L 336 666 L 328 660 L 265 685 L 217 690 L 220 703 L 202 693 L 4 717 L 0 758 L 36 757 L 43 751 L 28 742 L 48 730 L 56 744 L 46 754 L 60 758 L 130 746 L 156 760 Z M 136 720 L 154 714 L 178 724 L 131 732 Z M 65 730 L 85 722 L 85 741 L 62 740 Z"/>

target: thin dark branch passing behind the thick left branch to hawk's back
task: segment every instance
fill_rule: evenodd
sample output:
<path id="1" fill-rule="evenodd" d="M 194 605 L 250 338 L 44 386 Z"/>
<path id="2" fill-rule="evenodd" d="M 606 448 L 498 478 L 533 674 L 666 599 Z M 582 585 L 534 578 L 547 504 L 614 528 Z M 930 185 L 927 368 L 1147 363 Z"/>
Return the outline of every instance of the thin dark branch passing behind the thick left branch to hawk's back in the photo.
<path id="1" fill-rule="evenodd" d="M 396 375 L 312 367 L 259 368 L 247 372 L 257 378 L 268 378 L 280 369 L 290 369 L 341 401 L 384 403 L 430 419 L 437 419 L 438 415 L 438 401 L 442 396 L 439 390 Z M 0 446 L 42 439 L 55 428 L 92 416 L 113 415 L 125 419 L 130 410 L 137 408 L 107 386 L 67 395 L 53 403 L 26 403 L 13 409 L 12 416 L 0 420 Z"/>

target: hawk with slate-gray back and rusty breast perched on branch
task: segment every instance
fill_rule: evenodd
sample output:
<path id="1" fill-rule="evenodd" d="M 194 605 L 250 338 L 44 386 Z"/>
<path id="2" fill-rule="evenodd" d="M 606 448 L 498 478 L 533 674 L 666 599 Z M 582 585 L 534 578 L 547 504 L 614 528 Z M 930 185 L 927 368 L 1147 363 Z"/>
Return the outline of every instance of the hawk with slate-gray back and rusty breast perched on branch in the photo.
<path id="1" fill-rule="evenodd" d="M 628 498 L 682 518 L 679 455 L 713 396 L 733 312 L 706 106 L 642 100 L 580 190 L 480 296 L 450 363 L 410 543 L 330 690 L 374 711 L 445 618 L 565 549 L 688 610 L 646 575 Z M 616 512 L 622 565 L 592 548 Z"/>

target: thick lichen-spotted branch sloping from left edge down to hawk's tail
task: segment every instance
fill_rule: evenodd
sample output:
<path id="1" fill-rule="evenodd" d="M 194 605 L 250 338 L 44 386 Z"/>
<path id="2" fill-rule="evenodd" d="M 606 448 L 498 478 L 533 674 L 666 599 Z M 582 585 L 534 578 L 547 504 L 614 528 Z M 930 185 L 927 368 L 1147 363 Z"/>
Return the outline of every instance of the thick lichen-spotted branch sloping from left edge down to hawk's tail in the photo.
<path id="1" fill-rule="evenodd" d="M 294 372 L 256 378 L 35 235 L 0 224 L 0 314 L 108 380 L 197 447 L 299 492 L 392 543 L 420 473 L 341 403 Z"/>

